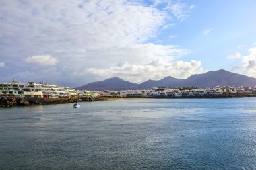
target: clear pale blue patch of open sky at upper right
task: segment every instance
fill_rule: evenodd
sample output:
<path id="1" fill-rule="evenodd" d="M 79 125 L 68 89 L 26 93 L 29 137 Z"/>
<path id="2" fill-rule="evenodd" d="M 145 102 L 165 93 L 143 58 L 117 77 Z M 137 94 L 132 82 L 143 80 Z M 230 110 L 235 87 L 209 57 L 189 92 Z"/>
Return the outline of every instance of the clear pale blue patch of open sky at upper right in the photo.
<path id="1" fill-rule="evenodd" d="M 227 60 L 226 56 L 236 51 L 246 55 L 255 43 L 256 1 L 189 1 L 189 4 L 195 7 L 187 19 L 164 30 L 158 40 L 191 50 L 184 60 L 201 60 L 205 69 L 232 71 L 239 60 Z M 207 34 L 204 30 L 208 30 Z"/>

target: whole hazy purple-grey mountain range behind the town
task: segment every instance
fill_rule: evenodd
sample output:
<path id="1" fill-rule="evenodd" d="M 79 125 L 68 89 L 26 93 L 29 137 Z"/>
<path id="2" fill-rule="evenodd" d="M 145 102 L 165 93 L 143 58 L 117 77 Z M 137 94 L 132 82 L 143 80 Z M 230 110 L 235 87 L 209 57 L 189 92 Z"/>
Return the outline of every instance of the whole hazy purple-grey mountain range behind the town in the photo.
<path id="1" fill-rule="evenodd" d="M 256 79 L 245 75 L 232 73 L 223 69 L 209 71 L 199 75 L 191 75 L 187 79 L 177 79 L 171 76 L 160 80 L 148 80 L 143 83 L 131 83 L 118 77 L 88 83 L 75 89 L 79 90 L 126 90 L 126 89 L 151 89 L 152 87 L 216 87 L 243 86 L 255 87 Z"/>

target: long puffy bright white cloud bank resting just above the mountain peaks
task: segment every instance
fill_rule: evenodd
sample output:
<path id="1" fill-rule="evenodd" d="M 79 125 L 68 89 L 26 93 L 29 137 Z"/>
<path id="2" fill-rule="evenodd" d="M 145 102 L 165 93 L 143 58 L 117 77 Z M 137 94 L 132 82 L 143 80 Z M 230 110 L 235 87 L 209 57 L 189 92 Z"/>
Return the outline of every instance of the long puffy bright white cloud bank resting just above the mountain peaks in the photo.
<path id="1" fill-rule="evenodd" d="M 162 79 L 166 76 L 177 78 L 187 78 L 190 75 L 205 73 L 201 68 L 201 61 L 191 60 L 190 62 L 164 62 L 163 60 L 153 60 L 146 65 L 123 65 L 109 67 L 108 69 L 89 68 L 92 73 L 102 79 L 102 77 L 121 77 L 122 79 L 141 83 L 148 79 Z"/>

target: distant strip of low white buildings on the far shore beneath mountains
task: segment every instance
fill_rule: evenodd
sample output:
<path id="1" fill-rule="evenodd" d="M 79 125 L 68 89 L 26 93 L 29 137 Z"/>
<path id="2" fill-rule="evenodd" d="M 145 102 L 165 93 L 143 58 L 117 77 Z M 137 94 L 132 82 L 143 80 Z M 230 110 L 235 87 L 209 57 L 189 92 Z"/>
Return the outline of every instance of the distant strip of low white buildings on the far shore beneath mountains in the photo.
<path id="1" fill-rule="evenodd" d="M 256 97 L 256 88 L 251 87 L 214 87 L 214 88 L 164 88 L 154 87 L 150 90 L 94 91 L 101 97 L 169 97 L 169 98 L 203 98 L 203 97 Z"/>

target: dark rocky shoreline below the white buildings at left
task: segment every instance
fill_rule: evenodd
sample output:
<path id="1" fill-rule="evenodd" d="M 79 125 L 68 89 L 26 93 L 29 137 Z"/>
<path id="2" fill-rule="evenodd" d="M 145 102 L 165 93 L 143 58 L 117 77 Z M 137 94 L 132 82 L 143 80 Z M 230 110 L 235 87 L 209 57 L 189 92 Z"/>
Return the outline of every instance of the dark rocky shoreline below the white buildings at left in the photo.
<path id="1" fill-rule="evenodd" d="M 83 98 L 59 98 L 59 99 L 44 99 L 44 98 L 0 98 L 0 107 L 14 107 L 14 106 L 31 106 L 31 105 L 51 105 L 63 103 L 77 103 L 84 101 L 100 101 L 100 97 L 83 97 Z"/>

